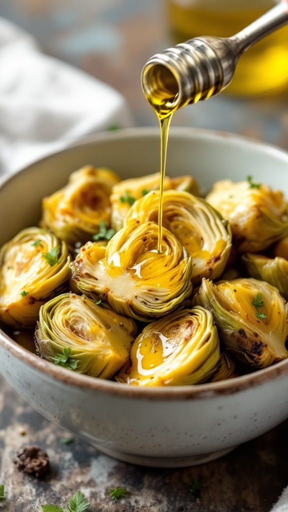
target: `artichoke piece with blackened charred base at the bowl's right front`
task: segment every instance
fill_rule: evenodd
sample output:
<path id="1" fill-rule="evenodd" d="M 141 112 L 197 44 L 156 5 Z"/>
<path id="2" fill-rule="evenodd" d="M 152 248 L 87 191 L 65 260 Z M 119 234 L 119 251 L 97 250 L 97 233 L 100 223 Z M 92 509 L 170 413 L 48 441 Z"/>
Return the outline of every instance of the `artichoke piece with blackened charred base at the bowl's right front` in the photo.
<path id="1" fill-rule="evenodd" d="M 194 304 L 212 312 L 219 337 L 237 359 L 265 368 L 288 357 L 287 305 L 277 288 L 256 279 L 203 279 Z"/>

